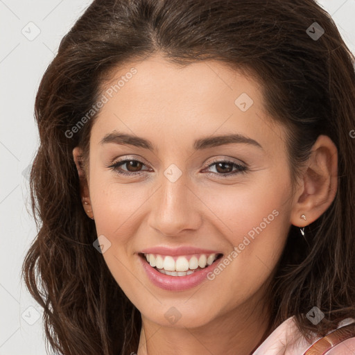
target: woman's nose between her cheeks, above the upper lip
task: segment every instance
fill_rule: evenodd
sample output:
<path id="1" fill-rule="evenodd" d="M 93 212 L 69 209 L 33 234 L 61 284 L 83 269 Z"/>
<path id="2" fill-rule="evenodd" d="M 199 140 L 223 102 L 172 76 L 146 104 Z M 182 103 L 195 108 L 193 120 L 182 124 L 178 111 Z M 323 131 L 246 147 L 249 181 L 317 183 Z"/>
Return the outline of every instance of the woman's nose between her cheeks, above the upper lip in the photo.
<path id="1" fill-rule="evenodd" d="M 150 204 L 150 227 L 164 236 L 198 230 L 202 220 L 199 208 L 203 204 L 193 191 L 187 174 L 182 173 L 175 182 L 162 175 L 159 182 Z"/>

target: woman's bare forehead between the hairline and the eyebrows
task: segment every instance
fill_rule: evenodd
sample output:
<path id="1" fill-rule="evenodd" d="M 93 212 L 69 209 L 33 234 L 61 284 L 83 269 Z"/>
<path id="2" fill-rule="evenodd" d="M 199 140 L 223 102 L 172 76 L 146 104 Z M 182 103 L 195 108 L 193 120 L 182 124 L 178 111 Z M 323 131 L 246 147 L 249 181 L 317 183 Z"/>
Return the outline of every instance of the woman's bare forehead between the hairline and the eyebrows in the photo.
<path id="1" fill-rule="evenodd" d="M 101 93 L 107 102 L 93 126 L 97 144 L 114 130 L 166 144 L 196 135 L 282 135 L 266 117 L 259 83 L 223 62 L 181 67 L 153 56 L 117 67 Z"/>

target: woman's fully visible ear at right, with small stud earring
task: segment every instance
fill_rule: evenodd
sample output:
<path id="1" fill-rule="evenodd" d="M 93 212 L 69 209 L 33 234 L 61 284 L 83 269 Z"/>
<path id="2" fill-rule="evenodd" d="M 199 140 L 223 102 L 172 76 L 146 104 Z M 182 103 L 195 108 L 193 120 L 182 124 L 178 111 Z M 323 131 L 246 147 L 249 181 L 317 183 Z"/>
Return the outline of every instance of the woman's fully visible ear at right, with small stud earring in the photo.
<path id="1" fill-rule="evenodd" d="M 313 144 L 295 193 L 291 223 L 304 227 L 318 219 L 333 202 L 337 189 L 338 150 L 328 136 L 320 135 Z"/>

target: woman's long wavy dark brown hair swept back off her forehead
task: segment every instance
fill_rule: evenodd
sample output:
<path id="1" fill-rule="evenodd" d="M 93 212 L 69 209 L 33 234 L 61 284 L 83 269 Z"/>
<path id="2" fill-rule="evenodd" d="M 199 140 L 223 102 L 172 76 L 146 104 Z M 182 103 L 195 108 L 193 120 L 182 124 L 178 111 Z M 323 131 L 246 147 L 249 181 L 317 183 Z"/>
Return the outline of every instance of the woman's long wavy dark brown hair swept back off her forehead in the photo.
<path id="1" fill-rule="evenodd" d="M 319 135 L 334 141 L 336 198 L 306 227 L 306 241 L 290 227 L 270 330 L 295 315 L 304 336 L 324 336 L 355 318 L 355 58 L 329 14 L 313 0 L 96 0 L 62 39 L 35 100 L 40 147 L 30 184 L 39 232 L 23 275 L 44 308 L 47 345 L 66 355 L 137 351 L 140 314 L 92 245 L 95 224 L 71 153 L 83 147 L 87 162 L 97 112 L 72 128 L 114 68 L 157 52 L 175 64 L 220 60 L 256 78 L 265 109 L 288 128 L 293 181 Z M 305 316 L 313 306 L 324 313 L 317 325 Z"/>

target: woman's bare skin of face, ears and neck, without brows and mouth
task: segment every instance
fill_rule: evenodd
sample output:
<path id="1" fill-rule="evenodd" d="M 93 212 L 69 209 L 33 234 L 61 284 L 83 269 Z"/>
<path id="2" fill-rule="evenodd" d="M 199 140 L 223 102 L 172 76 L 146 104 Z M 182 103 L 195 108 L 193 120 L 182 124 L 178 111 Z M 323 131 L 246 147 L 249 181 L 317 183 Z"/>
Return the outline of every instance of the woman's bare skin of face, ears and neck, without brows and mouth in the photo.
<path id="1" fill-rule="evenodd" d="M 113 79 L 132 66 L 137 73 L 105 103 L 93 125 L 88 168 L 78 164 L 80 148 L 74 148 L 73 159 L 88 202 L 83 207 L 94 216 L 98 236 L 111 243 L 103 258 L 141 312 L 137 354 L 248 355 L 270 334 L 266 285 L 290 226 L 309 225 L 334 200 L 336 146 L 318 137 L 292 193 L 285 130 L 264 112 L 258 83 L 222 62 L 179 68 L 160 55 L 117 67 Z M 242 93 L 254 101 L 245 112 L 234 104 Z M 157 151 L 101 145 L 114 130 L 149 139 Z M 195 139 L 230 133 L 254 139 L 262 149 L 226 144 L 193 150 Z M 119 157 L 144 162 L 141 175 L 107 168 Z M 208 167 L 211 158 L 248 164 L 248 171 L 223 178 L 223 170 Z M 171 164 L 182 171 L 175 182 L 164 175 Z M 226 173 L 236 171 L 228 167 Z M 129 168 L 121 166 L 139 171 Z M 227 256 L 273 210 L 279 214 L 223 272 L 187 291 L 157 288 L 139 263 L 137 253 L 157 245 L 192 245 Z M 171 307 L 181 315 L 174 324 L 164 317 Z"/>

